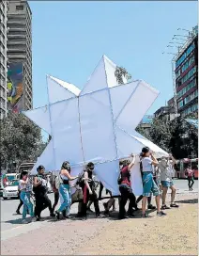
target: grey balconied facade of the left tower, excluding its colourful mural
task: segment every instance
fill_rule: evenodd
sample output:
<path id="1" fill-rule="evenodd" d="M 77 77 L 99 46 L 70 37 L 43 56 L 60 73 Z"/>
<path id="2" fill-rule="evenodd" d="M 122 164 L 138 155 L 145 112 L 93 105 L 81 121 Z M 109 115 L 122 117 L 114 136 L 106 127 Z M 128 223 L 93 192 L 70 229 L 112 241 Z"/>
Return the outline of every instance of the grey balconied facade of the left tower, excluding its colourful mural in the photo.
<path id="1" fill-rule="evenodd" d="M 33 106 L 32 12 L 26 0 L 8 1 L 8 65 L 23 63 L 23 110 Z"/>

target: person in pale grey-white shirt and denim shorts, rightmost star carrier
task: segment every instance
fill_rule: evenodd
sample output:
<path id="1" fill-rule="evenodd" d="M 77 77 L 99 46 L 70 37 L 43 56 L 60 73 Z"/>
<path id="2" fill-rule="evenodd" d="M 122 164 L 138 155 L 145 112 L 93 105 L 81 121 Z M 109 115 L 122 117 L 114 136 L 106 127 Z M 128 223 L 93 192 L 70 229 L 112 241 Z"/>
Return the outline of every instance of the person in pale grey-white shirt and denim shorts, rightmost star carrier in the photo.
<path id="1" fill-rule="evenodd" d="M 168 158 L 163 157 L 159 164 L 159 168 L 161 169 L 161 185 L 162 185 L 162 206 L 161 209 L 170 209 L 170 207 L 178 207 L 175 203 L 176 196 L 176 187 L 173 182 L 173 177 L 175 173 L 174 165 L 176 164 L 176 160 L 172 154 L 169 155 Z M 171 204 L 170 207 L 166 205 L 166 195 L 168 188 L 172 190 L 171 193 Z"/>

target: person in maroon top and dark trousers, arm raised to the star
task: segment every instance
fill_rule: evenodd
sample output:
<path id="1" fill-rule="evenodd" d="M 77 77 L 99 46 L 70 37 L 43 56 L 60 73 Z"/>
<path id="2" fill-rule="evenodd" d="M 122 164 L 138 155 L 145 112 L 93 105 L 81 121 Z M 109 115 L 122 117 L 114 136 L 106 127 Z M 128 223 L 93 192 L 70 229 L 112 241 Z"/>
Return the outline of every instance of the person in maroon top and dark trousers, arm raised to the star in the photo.
<path id="1" fill-rule="evenodd" d="M 134 154 L 131 154 L 130 156 L 132 157 L 131 162 L 129 160 L 124 160 L 124 161 L 120 161 L 119 163 L 120 175 L 118 178 L 118 184 L 119 184 L 119 191 L 121 194 L 121 198 L 119 200 L 119 219 L 133 216 L 132 208 L 137 209 L 136 198 L 132 192 L 131 183 L 130 183 L 130 169 L 134 166 L 135 156 Z M 125 205 L 128 200 L 130 200 L 130 203 L 129 203 L 129 210 L 128 210 L 128 216 L 127 216 Z"/>

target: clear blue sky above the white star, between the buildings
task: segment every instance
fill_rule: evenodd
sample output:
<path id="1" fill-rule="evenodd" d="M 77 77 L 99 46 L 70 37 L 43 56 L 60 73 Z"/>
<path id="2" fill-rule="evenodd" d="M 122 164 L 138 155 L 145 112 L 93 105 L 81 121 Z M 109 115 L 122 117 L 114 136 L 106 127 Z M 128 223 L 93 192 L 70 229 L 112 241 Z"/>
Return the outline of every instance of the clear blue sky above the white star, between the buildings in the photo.
<path id="1" fill-rule="evenodd" d="M 125 67 L 133 79 L 144 79 L 161 91 L 148 114 L 173 96 L 172 56 L 161 53 L 178 27 L 197 24 L 197 2 L 29 4 L 34 107 L 47 103 L 46 74 L 83 88 L 103 54 Z"/>

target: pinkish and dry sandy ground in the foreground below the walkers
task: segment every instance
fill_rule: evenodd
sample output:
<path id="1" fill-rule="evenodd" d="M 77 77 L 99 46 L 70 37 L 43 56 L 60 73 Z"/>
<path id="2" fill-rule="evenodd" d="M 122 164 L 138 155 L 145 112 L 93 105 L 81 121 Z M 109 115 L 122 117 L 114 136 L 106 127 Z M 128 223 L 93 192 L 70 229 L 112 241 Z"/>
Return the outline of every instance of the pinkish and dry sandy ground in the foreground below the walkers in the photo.
<path id="1" fill-rule="evenodd" d="M 2 241 L 1 255 L 197 255 L 198 196 L 176 195 L 167 216 L 46 223 Z"/>

